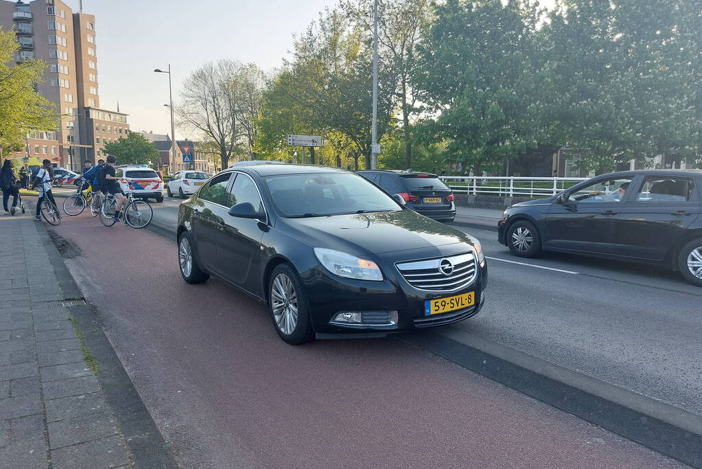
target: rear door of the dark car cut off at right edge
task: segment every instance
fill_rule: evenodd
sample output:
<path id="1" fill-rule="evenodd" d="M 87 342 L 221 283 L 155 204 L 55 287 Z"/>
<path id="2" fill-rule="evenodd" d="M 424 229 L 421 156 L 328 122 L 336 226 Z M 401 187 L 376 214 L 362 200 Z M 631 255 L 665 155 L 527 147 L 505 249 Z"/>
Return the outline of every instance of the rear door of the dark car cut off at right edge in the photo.
<path id="1" fill-rule="evenodd" d="M 693 178 L 664 174 L 641 178 L 637 186 L 619 216 L 618 254 L 663 260 L 699 216 L 698 187 Z"/>

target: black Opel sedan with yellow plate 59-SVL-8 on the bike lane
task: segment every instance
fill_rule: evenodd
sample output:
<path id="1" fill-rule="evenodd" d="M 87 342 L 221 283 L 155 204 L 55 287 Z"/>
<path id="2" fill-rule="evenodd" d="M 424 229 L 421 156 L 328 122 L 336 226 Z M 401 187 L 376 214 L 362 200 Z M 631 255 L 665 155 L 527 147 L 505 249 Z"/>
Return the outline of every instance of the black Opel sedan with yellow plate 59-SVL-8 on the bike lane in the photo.
<path id="1" fill-rule="evenodd" d="M 320 166 L 214 176 L 180 204 L 178 258 L 185 282 L 213 275 L 268 303 L 293 344 L 461 321 L 482 307 L 487 280 L 477 239 Z"/>

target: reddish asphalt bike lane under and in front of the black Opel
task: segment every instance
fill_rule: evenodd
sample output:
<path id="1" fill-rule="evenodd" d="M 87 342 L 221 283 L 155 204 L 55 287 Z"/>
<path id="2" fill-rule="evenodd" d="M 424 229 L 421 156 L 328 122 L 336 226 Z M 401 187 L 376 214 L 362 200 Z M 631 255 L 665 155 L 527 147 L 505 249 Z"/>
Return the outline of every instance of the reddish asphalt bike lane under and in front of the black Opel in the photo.
<path id="1" fill-rule="evenodd" d="M 185 284 L 148 230 L 50 228 L 186 467 L 682 466 L 392 337 L 287 345 L 264 305 Z"/>

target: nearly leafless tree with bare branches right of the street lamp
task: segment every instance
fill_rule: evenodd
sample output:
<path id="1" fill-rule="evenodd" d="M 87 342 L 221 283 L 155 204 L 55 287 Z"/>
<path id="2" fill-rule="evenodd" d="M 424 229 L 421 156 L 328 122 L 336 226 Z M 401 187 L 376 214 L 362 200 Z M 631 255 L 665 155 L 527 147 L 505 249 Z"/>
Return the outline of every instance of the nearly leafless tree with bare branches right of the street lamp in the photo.
<path id="1" fill-rule="evenodd" d="M 181 126 L 203 133 L 217 145 L 223 168 L 229 166 L 241 138 L 239 72 L 241 65 L 233 60 L 207 62 L 185 79 L 176 107 Z"/>

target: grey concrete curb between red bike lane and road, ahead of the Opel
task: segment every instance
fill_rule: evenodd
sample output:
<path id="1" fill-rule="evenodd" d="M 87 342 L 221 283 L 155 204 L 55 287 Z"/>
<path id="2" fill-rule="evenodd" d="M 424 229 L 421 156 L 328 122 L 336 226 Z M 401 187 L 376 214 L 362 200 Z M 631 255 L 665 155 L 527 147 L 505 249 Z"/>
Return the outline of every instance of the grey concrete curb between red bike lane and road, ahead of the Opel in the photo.
<path id="1" fill-rule="evenodd" d="M 702 416 L 456 329 L 399 336 L 526 395 L 702 468 Z"/>

